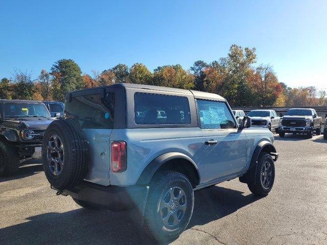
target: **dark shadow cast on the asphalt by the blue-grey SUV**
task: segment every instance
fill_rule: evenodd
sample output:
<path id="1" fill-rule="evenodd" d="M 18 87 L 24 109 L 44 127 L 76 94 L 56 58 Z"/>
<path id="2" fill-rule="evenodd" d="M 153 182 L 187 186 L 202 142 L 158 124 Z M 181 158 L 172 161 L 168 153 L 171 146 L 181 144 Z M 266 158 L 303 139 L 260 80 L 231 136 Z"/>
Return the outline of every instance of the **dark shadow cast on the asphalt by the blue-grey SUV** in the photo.
<path id="1" fill-rule="evenodd" d="M 187 229 L 222 218 L 259 199 L 218 186 L 196 191 L 194 213 Z M 0 229 L 0 244 L 158 244 L 134 223 L 132 212 L 79 208 L 44 213 Z"/>

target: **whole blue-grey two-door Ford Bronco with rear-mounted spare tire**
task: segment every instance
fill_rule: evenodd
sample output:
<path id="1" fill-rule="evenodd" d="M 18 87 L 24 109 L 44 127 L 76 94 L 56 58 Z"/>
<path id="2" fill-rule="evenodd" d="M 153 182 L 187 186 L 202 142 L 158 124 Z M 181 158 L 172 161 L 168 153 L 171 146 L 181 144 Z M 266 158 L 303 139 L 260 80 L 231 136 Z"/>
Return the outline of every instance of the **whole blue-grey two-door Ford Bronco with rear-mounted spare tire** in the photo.
<path id="1" fill-rule="evenodd" d="M 273 141 L 249 117 L 239 125 L 217 94 L 120 83 L 67 94 L 42 159 L 57 194 L 85 208 L 134 207 L 146 231 L 169 240 L 189 224 L 195 190 L 239 178 L 267 195 Z"/>

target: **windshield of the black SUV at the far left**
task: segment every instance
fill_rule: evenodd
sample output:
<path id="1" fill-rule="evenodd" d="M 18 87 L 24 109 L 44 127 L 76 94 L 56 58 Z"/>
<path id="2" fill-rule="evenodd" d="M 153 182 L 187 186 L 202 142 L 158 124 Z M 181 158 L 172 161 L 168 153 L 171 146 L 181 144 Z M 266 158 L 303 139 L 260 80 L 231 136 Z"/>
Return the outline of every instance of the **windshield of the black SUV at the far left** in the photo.
<path id="1" fill-rule="evenodd" d="M 50 117 L 44 104 L 5 103 L 4 117 Z"/>

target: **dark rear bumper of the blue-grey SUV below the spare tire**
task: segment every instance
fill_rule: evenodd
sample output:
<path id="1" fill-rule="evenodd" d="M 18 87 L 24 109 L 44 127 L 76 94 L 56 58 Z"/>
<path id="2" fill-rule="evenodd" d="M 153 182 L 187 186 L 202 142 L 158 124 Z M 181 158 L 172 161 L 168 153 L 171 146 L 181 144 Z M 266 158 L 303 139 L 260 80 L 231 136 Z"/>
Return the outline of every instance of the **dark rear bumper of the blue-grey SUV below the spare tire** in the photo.
<path id="1" fill-rule="evenodd" d="M 55 189 L 52 186 L 51 188 Z M 102 186 L 87 181 L 83 181 L 74 188 L 57 192 L 57 194 L 70 195 L 78 200 L 87 201 L 103 209 L 129 209 L 136 207 L 142 214 L 144 213 L 148 193 L 149 186 L 144 185 L 126 187 Z"/>

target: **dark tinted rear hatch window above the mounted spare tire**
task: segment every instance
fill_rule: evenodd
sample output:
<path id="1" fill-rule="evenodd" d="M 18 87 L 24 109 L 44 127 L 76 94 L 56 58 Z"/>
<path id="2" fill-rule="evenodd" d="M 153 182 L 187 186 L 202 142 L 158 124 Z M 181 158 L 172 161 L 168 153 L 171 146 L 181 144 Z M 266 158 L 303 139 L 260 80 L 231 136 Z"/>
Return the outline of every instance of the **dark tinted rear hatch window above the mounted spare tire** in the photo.
<path id="1" fill-rule="evenodd" d="M 72 97 L 65 103 L 65 118 L 75 119 L 83 129 L 112 129 L 114 116 L 114 93 L 89 94 Z"/>

